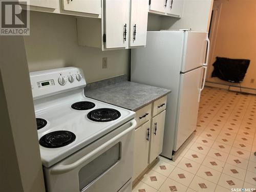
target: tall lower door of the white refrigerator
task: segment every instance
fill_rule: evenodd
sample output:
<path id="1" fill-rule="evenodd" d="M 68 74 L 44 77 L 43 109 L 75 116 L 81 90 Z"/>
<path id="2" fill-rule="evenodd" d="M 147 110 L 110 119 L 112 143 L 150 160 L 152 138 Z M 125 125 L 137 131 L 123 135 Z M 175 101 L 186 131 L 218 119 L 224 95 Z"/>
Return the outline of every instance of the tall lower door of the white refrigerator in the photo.
<path id="1" fill-rule="evenodd" d="M 181 75 L 179 110 L 174 143 L 175 152 L 196 130 L 202 73 L 203 68 L 201 67 Z"/>

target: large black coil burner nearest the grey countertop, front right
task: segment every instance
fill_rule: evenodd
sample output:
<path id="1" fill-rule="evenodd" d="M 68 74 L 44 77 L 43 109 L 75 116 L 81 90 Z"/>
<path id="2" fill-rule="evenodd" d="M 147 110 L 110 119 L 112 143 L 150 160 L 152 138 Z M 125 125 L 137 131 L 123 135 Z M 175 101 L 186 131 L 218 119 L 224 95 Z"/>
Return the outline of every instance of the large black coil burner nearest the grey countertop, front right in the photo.
<path id="1" fill-rule="evenodd" d="M 92 121 L 108 122 L 118 119 L 121 116 L 120 112 L 115 109 L 101 108 L 88 113 L 87 117 Z"/>

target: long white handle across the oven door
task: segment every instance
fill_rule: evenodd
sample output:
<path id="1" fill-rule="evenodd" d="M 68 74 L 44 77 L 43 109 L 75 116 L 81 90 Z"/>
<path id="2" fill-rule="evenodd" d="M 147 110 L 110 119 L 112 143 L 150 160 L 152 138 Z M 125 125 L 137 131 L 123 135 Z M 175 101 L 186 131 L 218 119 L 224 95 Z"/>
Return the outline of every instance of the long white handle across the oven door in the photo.
<path id="1" fill-rule="evenodd" d="M 62 165 L 62 164 L 56 165 L 55 167 L 53 167 L 51 169 L 51 174 L 53 174 L 53 175 L 64 174 L 64 173 L 70 172 L 70 170 L 73 170 L 73 169 L 77 168 L 79 165 L 83 164 L 84 162 L 88 161 L 90 158 L 92 158 L 96 154 L 100 153 L 102 150 L 104 150 L 104 148 L 106 148 L 109 145 L 111 145 L 112 143 L 116 142 L 122 136 L 124 136 L 125 134 L 127 134 L 130 131 L 134 130 L 135 127 L 136 127 L 136 124 L 137 124 L 136 120 L 133 119 L 131 121 L 131 126 L 128 129 L 124 130 L 123 132 L 121 132 L 117 136 L 113 137 L 109 141 L 107 141 L 104 144 L 100 145 L 98 148 L 96 148 L 95 150 L 93 150 L 89 154 L 83 156 L 81 159 L 75 161 L 74 163 L 71 163 L 69 165 Z"/>

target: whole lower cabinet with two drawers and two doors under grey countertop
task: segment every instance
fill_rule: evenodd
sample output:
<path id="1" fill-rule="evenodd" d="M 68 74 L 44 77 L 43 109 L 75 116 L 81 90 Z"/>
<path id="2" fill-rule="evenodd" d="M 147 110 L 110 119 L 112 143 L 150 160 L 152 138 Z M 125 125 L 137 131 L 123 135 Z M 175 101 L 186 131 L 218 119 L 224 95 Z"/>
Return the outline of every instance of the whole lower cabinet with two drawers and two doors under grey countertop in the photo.
<path id="1" fill-rule="evenodd" d="M 162 153 L 166 99 L 163 96 L 136 111 L 133 181 Z"/>

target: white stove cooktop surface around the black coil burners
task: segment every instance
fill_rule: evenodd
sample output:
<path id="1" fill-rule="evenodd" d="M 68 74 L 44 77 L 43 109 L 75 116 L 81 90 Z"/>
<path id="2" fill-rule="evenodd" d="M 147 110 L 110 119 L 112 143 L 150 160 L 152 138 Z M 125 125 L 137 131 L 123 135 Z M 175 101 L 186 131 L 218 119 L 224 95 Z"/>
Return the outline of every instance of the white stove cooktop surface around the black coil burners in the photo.
<path id="1" fill-rule="evenodd" d="M 92 102 L 95 106 L 90 110 L 74 110 L 71 107 L 73 103 L 81 101 Z M 37 119 L 47 120 L 47 124 L 38 130 L 41 161 L 46 167 L 52 166 L 135 117 L 135 112 L 85 96 L 79 98 L 74 96 L 74 100 L 63 101 L 59 105 L 49 105 L 51 106 L 35 111 Z M 112 114 L 112 112 L 114 113 Z M 91 116 L 90 114 L 96 114 L 95 119 L 88 118 Z M 62 135 L 49 137 L 57 131 L 73 133 L 74 140 L 70 142 L 71 140 L 68 139 L 67 142 L 60 145 L 46 144 L 48 140 L 62 141 Z M 44 142 L 40 140 L 44 140 Z"/>

